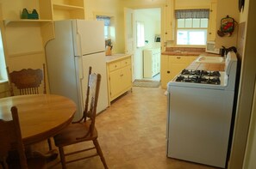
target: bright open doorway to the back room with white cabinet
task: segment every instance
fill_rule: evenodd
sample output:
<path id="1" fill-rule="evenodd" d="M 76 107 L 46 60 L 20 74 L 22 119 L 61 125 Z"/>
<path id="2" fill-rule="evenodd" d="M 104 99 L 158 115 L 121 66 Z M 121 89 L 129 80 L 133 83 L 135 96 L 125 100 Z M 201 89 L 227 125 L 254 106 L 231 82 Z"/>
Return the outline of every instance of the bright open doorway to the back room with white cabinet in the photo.
<path id="1" fill-rule="evenodd" d="M 144 75 L 145 71 L 151 71 L 150 69 L 154 64 L 160 66 L 160 61 L 158 63 L 144 62 L 144 51 L 159 49 L 159 59 L 160 59 L 160 42 L 156 40 L 161 34 L 161 8 L 150 8 L 150 9 L 134 9 L 134 25 L 135 27 L 134 36 L 134 80 L 153 80 L 160 81 L 159 71 L 153 73 L 151 76 Z M 144 31 L 141 31 L 141 24 L 143 24 Z M 141 34 L 144 33 L 144 45 L 141 45 Z M 138 45 L 140 41 L 140 45 Z M 148 65 L 150 64 L 150 65 Z"/>

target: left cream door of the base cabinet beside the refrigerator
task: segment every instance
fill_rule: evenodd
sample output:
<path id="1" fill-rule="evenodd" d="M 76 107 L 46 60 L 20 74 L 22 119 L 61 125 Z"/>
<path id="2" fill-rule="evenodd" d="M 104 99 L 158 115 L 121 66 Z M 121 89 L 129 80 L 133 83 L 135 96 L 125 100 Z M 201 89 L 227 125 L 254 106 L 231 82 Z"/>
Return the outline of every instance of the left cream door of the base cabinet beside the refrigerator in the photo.
<path id="1" fill-rule="evenodd" d="M 121 69 L 116 69 L 109 73 L 110 98 L 115 97 L 116 94 L 119 94 L 122 91 L 121 75 Z"/>

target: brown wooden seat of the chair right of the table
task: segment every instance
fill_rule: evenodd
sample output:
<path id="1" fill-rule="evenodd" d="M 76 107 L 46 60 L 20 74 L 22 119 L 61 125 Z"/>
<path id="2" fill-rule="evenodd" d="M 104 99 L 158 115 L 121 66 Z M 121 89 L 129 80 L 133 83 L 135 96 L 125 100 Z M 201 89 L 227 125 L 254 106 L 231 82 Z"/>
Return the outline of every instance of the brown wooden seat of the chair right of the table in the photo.
<path id="1" fill-rule="evenodd" d="M 93 135 L 84 137 L 90 130 L 91 123 L 70 124 L 60 133 L 54 136 L 54 142 L 57 147 L 64 147 L 78 142 L 86 142 L 97 139 L 97 129 L 94 128 Z M 83 138 L 81 138 L 83 137 Z M 80 139 L 77 139 L 80 138 Z"/>

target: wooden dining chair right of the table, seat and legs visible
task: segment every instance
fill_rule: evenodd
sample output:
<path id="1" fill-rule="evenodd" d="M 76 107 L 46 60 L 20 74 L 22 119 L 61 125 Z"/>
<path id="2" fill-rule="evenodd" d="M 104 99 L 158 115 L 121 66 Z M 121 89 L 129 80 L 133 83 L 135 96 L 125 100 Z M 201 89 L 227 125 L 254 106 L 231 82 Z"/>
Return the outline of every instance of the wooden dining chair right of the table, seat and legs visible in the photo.
<path id="1" fill-rule="evenodd" d="M 84 106 L 84 115 L 78 120 L 78 122 L 73 122 L 66 129 L 62 130 L 57 136 L 54 136 L 55 145 L 59 148 L 60 160 L 62 168 L 66 168 L 66 164 L 77 161 L 84 160 L 99 155 L 103 166 L 108 168 L 106 161 L 103 157 L 103 152 L 97 142 L 97 129 L 95 127 L 96 112 L 97 112 L 97 100 L 99 94 L 101 75 L 91 74 L 91 67 L 89 69 L 88 86 L 86 93 L 86 100 Z M 90 107 L 89 107 L 90 105 Z M 88 119 L 86 119 L 88 118 Z M 78 142 L 88 142 L 92 141 L 94 147 L 84 148 L 82 150 L 73 151 L 72 153 L 64 152 L 64 147 L 76 144 Z M 82 153 L 84 151 L 92 150 L 96 148 L 96 153 L 90 156 L 84 156 L 75 160 L 66 160 L 67 155 Z"/>

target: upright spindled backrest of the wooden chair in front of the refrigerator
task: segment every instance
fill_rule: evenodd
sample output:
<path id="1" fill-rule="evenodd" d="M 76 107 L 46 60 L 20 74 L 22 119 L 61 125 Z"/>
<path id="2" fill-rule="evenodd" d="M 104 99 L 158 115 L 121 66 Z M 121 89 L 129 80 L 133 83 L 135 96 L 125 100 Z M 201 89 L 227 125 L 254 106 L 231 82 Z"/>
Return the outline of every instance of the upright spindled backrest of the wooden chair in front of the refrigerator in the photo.
<path id="1" fill-rule="evenodd" d="M 85 97 L 84 115 L 78 122 L 86 122 L 87 118 L 90 119 L 90 135 L 93 135 L 95 128 L 95 118 L 97 113 L 97 101 L 100 89 L 101 75 L 91 73 L 91 67 L 89 68 L 88 85 Z"/>

